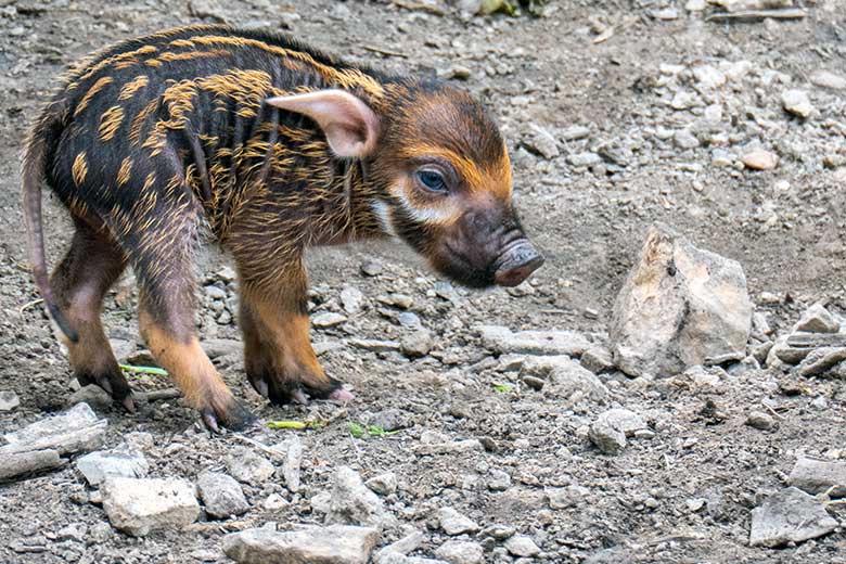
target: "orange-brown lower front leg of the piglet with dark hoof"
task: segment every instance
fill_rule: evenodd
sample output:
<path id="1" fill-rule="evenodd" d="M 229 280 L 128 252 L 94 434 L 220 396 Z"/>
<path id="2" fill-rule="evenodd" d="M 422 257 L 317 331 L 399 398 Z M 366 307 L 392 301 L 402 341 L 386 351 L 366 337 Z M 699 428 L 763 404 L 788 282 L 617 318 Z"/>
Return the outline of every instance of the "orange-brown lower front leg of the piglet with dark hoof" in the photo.
<path id="1" fill-rule="evenodd" d="M 277 405 L 305 403 L 307 396 L 352 399 L 323 372 L 311 348 L 304 268 L 289 266 L 283 272 L 260 281 L 242 272 L 240 322 L 249 383 Z"/>

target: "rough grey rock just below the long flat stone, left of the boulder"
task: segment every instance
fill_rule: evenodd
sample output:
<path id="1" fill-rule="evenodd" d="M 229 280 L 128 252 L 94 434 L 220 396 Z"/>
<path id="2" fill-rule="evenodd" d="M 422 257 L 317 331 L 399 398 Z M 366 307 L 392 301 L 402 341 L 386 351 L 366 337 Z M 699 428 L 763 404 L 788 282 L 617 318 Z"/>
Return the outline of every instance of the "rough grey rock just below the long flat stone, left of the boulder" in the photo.
<path id="1" fill-rule="evenodd" d="M 581 398 L 604 400 L 608 389 L 600 380 L 566 356 L 529 357 L 523 362 L 521 377 L 535 376 L 549 382 L 544 386 L 548 395 L 576 401 Z"/>

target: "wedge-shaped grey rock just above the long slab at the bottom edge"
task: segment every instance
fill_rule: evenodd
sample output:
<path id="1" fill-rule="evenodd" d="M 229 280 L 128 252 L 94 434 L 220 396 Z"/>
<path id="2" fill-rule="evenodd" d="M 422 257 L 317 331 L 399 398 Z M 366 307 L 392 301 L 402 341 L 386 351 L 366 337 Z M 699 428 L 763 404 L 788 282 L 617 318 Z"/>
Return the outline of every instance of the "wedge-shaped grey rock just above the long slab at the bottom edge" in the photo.
<path id="1" fill-rule="evenodd" d="M 392 521 L 382 500 L 361 482 L 358 472 L 339 466 L 332 480 L 326 523 L 382 528 Z"/>

